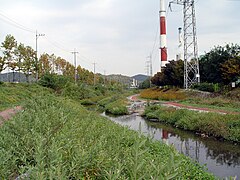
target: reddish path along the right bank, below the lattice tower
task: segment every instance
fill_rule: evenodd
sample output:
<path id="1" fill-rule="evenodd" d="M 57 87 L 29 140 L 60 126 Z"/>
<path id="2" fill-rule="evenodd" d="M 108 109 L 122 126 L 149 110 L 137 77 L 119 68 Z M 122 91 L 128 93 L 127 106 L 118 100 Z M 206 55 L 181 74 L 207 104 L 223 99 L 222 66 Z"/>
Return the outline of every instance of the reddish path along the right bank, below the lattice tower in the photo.
<path id="1" fill-rule="evenodd" d="M 133 96 L 128 97 L 128 99 L 132 102 L 143 102 L 146 103 L 145 100 L 139 99 L 139 94 L 135 94 Z M 167 106 L 167 107 L 174 107 L 177 109 L 188 109 L 192 111 L 199 111 L 199 112 L 216 112 L 219 114 L 239 114 L 239 112 L 232 112 L 232 111 L 225 111 L 225 110 L 220 110 L 220 109 L 210 109 L 210 108 L 201 108 L 201 107 L 194 107 L 194 106 L 188 106 L 176 102 L 160 102 L 157 100 L 151 100 L 149 103 L 159 103 L 162 106 Z"/>

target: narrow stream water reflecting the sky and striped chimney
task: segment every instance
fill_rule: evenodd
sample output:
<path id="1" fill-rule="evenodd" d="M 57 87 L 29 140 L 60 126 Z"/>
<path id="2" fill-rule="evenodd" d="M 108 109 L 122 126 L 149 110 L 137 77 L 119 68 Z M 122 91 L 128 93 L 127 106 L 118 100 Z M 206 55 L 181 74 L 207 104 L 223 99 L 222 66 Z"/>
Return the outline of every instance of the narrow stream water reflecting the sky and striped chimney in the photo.
<path id="1" fill-rule="evenodd" d="M 140 129 L 155 140 L 174 145 L 179 152 L 206 165 L 208 171 L 218 177 L 237 176 L 240 179 L 239 145 L 200 137 L 158 122 L 149 122 L 136 114 L 108 118 L 130 129 Z"/>

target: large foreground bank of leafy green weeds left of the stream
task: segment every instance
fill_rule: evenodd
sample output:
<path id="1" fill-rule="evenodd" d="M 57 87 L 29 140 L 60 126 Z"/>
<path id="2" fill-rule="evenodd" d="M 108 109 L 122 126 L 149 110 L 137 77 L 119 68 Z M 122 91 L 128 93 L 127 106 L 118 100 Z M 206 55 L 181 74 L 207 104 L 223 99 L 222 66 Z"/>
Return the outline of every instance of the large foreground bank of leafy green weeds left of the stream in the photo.
<path id="1" fill-rule="evenodd" d="M 23 107 L 0 128 L 2 179 L 214 179 L 174 148 L 73 100 L 40 95 Z"/>

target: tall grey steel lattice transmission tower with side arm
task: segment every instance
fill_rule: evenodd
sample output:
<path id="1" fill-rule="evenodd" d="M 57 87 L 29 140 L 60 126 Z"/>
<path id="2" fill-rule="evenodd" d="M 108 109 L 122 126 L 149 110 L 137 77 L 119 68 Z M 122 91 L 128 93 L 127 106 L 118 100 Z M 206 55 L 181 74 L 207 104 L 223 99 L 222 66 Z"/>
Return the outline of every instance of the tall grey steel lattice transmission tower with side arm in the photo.
<path id="1" fill-rule="evenodd" d="M 184 88 L 188 89 L 200 83 L 194 0 L 172 0 L 171 4 L 183 5 Z"/>

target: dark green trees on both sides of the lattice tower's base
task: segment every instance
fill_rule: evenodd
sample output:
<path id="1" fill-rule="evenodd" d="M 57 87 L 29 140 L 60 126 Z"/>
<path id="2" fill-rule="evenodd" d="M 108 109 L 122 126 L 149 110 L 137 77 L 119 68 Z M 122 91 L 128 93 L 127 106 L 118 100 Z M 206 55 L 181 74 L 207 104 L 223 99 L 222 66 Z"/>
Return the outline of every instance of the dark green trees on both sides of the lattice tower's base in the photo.
<path id="1" fill-rule="evenodd" d="M 200 79 L 202 83 L 228 85 L 240 79 L 240 46 L 227 44 L 214 47 L 199 58 Z M 183 87 L 184 62 L 170 61 L 151 79 L 157 86 Z"/>

